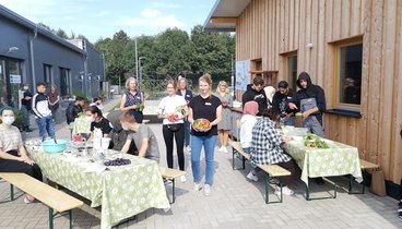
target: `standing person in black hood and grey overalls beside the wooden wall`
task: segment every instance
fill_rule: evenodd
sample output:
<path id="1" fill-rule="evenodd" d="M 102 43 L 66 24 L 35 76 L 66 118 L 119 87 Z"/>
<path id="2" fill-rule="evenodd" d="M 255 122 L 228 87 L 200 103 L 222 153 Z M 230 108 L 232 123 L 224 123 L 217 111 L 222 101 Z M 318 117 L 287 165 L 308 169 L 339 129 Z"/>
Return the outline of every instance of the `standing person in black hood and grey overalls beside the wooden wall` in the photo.
<path id="1" fill-rule="evenodd" d="M 298 75 L 296 84 L 300 89 L 288 104 L 289 109 L 299 109 L 303 125 L 311 133 L 323 137 L 322 112 L 326 110 L 326 95 L 322 87 L 312 84 L 307 72 Z"/>

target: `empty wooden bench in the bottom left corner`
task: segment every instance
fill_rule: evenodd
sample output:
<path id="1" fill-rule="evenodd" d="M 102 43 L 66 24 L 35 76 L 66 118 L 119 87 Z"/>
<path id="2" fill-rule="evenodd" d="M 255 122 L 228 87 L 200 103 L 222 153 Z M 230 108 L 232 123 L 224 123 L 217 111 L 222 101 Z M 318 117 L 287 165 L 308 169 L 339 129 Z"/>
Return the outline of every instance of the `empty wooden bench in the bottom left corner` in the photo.
<path id="1" fill-rule="evenodd" d="M 81 207 L 84 203 L 48 184 L 36 180 L 22 172 L 0 172 L 0 178 L 11 184 L 11 201 L 14 200 L 14 189 L 17 186 L 23 192 L 34 196 L 49 207 L 49 228 L 54 228 L 54 218 L 63 212 L 69 212 L 70 228 L 72 225 L 72 209 Z M 55 212 L 55 215 L 54 215 Z"/>

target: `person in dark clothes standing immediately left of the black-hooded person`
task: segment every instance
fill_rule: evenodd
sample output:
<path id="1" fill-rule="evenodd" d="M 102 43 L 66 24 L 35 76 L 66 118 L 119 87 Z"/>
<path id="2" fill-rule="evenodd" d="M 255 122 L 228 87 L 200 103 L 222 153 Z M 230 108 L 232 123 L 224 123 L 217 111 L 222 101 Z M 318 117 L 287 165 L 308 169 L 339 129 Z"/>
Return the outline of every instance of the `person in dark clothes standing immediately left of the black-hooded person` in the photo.
<path id="1" fill-rule="evenodd" d="M 277 84 L 277 92 L 273 95 L 272 107 L 280 111 L 281 122 L 285 125 L 295 125 L 295 112 L 297 110 L 292 110 L 288 107 L 294 94 L 287 82 L 281 81 Z"/>

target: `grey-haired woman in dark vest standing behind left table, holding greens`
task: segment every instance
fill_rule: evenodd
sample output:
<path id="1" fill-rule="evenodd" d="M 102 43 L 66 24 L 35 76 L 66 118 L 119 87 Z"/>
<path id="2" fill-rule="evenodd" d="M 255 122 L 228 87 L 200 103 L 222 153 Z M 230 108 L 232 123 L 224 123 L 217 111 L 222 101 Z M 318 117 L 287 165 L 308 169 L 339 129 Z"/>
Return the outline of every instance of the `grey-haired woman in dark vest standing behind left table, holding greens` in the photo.
<path id="1" fill-rule="evenodd" d="M 127 91 L 121 97 L 120 110 L 130 111 L 138 123 L 142 123 L 144 114 L 144 95 L 138 89 L 138 83 L 134 77 L 129 77 L 126 81 Z"/>

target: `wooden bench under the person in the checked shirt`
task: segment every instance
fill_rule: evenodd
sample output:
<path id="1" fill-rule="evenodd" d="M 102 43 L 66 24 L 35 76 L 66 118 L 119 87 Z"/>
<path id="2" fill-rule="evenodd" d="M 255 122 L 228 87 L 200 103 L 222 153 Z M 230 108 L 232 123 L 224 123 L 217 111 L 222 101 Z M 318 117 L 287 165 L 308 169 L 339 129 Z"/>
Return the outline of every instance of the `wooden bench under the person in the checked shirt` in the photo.
<path id="1" fill-rule="evenodd" d="M 243 150 L 241 144 L 239 142 L 229 142 L 229 145 L 233 148 L 233 169 L 235 169 L 235 154 L 238 153 L 241 155 L 243 158 L 243 169 L 245 169 L 245 161 L 246 159 L 250 159 L 250 155 Z M 272 203 L 282 203 L 283 202 L 283 193 L 282 193 L 282 180 L 281 177 L 291 176 L 292 173 L 282 168 L 279 165 L 257 165 L 262 171 L 265 172 L 265 204 L 272 204 Z M 280 188 L 281 188 L 281 197 L 277 202 L 270 202 L 270 178 L 277 178 L 280 181 Z"/>

